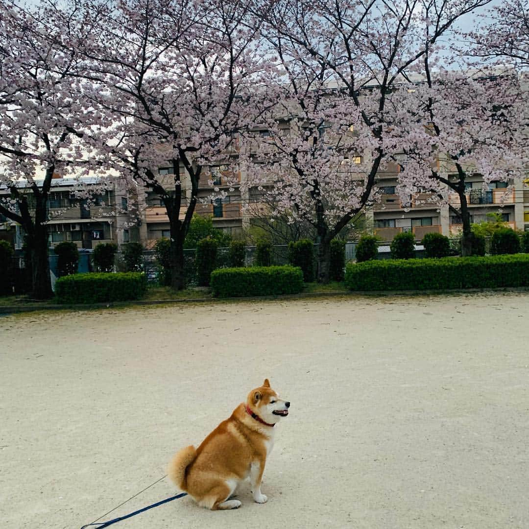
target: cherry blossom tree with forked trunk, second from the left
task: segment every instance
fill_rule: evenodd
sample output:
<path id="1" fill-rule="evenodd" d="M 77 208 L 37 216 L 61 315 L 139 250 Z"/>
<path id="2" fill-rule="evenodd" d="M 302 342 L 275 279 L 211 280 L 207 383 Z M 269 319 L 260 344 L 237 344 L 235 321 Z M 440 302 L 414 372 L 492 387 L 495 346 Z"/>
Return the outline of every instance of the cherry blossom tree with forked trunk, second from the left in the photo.
<path id="1" fill-rule="evenodd" d="M 171 281 L 184 288 L 184 239 L 209 163 L 236 153 L 248 97 L 260 81 L 258 24 L 223 0 L 83 4 L 70 29 L 93 104 L 115 120 L 115 167 L 157 193 L 170 225 Z M 250 29 L 249 29 L 250 28 Z M 98 87 L 93 90 L 93 85 Z M 158 167 L 169 167 L 161 179 Z"/>

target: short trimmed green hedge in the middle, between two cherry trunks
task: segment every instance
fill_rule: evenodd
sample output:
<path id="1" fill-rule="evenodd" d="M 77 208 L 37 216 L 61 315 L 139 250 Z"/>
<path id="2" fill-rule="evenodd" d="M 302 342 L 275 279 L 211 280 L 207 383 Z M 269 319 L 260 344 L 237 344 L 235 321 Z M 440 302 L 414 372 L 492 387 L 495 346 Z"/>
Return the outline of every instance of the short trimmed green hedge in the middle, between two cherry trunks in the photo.
<path id="1" fill-rule="evenodd" d="M 220 268 L 211 273 L 210 285 L 217 297 L 297 294 L 303 290 L 303 272 L 293 266 Z"/>

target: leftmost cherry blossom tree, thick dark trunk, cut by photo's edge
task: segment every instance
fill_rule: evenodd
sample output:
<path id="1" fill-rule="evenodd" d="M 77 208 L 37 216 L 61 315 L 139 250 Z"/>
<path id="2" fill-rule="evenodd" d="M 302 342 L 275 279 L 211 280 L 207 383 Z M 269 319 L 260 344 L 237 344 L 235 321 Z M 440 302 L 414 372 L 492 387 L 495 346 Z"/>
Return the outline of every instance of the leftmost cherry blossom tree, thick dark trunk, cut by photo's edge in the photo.
<path id="1" fill-rule="evenodd" d="M 58 45 L 57 13 L 0 1 L 0 213 L 19 223 L 31 256 L 32 295 L 52 295 L 47 200 L 54 174 L 97 166 L 83 131 L 102 124 L 68 77 L 75 56 Z"/>

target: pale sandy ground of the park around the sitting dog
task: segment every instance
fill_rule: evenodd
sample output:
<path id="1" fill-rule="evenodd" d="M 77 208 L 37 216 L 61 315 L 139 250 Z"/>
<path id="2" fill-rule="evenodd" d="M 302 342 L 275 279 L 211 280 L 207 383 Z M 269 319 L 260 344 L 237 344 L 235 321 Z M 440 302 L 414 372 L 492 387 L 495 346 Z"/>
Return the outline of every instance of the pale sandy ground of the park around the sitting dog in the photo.
<path id="1" fill-rule="evenodd" d="M 529 296 L 0 318 L 0 526 L 79 529 L 269 377 L 268 503 L 189 498 L 116 529 L 529 527 Z M 176 493 L 167 478 L 104 519 Z"/>

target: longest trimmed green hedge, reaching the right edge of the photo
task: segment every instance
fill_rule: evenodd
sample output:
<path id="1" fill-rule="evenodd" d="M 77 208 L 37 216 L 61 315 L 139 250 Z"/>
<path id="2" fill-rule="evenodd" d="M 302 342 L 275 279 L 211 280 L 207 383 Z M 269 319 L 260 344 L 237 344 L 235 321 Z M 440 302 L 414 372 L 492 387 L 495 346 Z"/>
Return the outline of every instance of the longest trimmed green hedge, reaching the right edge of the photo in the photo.
<path id="1" fill-rule="evenodd" d="M 529 286 L 529 254 L 349 263 L 350 290 L 439 290 Z"/>

